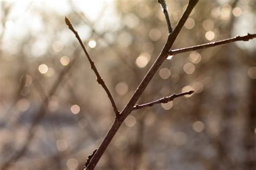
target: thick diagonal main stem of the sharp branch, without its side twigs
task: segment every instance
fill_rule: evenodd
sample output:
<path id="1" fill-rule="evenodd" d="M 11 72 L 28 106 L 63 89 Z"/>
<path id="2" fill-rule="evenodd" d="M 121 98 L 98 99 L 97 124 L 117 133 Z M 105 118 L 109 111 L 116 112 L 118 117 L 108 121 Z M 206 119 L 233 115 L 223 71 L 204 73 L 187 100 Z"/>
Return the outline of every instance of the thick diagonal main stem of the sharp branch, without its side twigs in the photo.
<path id="1" fill-rule="evenodd" d="M 105 152 L 107 146 L 109 146 L 110 141 L 114 137 L 114 134 L 117 133 L 117 131 L 118 131 L 120 125 L 122 124 L 122 122 L 124 121 L 124 119 L 131 113 L 131 111 L 133 110 L 134 104 L 138 101 L 140 95 L 142 95 L 143 91 L 147 87 L 147 84 L 149 84 L 149 82 L 151 81 L 154 74 L 156 74 L 158 68 L 161 66 L 161 64 L 165 61 L 165 59 L 169 55 L 169 50 L 171 49 L 171 47 L 172 47 L 174 41 L 176 40 L 181 28 L 185 24 L 188 16 L 190 15 L 194 6 L 196 6 L 198 1 L 199 0 L 189 0 L 188 6 L 187 6 L 185 12 L 183 13 L 183 16 L 179 20 L 179 23 L 176 26 L 176 28 L 173 30 L 173 32 L 171 34 L 169 34 L 169 36 L 167 38 L 167 41 L 164 45 L 164 48 L 162 49 L 161 53 L 159 54 L 157 60 L 153 63 L 153 66 L 150 68 L 149 72 L 147 72 L 146 76 L 144 77 L 142 82 L 139 84 L 139 87 L 137 88 L 137 90 L 132 95 L 130 101 L 126 104 L 125 108 L 121 112 L 121 114 L 120 114 L 121 117 L 120 117 L 119 121 L 117 121 L 117 119 L 114 119 L 114 122 L 113 122 L 109 132 L 107 132 L 107 134 L 106 134 L 105 138 L 103 139 L 102 143 L 99 145 L 98 150 L 96 151 L 96 153 L 91 158 L 91 161 L 89 162 L 89 165 L 86 167 L 87 170 L 94 169 L 95 166 L 97 165 L 99 159 L 102 157 L 102 155 Z"/>

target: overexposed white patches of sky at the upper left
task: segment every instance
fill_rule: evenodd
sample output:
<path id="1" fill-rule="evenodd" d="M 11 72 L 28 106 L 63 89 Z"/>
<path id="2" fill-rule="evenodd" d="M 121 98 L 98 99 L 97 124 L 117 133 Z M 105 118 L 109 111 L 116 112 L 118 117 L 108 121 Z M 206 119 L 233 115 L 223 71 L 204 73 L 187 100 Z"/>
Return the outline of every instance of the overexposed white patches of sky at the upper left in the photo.
<path id="1" fill-rule="evenodd" d="M 1 33 L 5 29 L 4 36 L 2 39 L 2 42 L 5 43 L 2 43 L 2 48 L 7 51 L 9 51 L 10 47 L 18 47 L 18 42 L 22 42 L 22 39 L 27 38 L 28 33 L 31 33 L 33 35 L 40 35 L 44 31 L 43 24 L 45 21 L 43 21 L 42 15 L 40 13 L 36 13 L 37 10 L 44 11 L 44 13 L 47 13 L 49 11 L 49 13 L 52 13 L 53 18 L 56 18 L 56 16 L 63 16 L 63 23 L 64 17 L 67 16 L 72 10 L 76 12 L 82 12 L 84 16 L 86 16 L 91 22 L 97 19 L 98 16 L 104 10 L 104 15 L 100 16 L 100 20 L 98 20 L 96 23 L 97 31 L 100 31 L 100 29 L 102 29 L 103 31 L 103 29 L 109 29 L 109 27 L 111 27 L 111 30 L 114 30 L 115 27 L 117 28 L 119 26 L 118 17 L 116 15 L 115 4 L 113 0 L 23 0 L 0 1 L 0 4 L 11 4 L 11 10 L 9 12 L 9 15 L 7 18 L 1 20 L 3 25 L 1 24 L 0 27 Z M 3 6 L 1 6 L 1 9 L 3 9 Z M 55 13 L 56 16 L 54 16 Z M 51 24 L 52 27 L 54 27 L 55 23 L 49 22 L 48 20 L 46 20 L 46 22 L 46 24 Z M 83 22 L 81 22 L 81 24 L 82 23 Z M 83 40 L 90 38 L 88 34 L 90 31 L 88 30 L 88 28 L 86 30 L 85 24 L 83 24 L 83 26 L 77 26 L 76 29 Z M 63 30 L 59 30 L 59 32 L 61 31 Z M 66 29 L 66 31 L 69 30 Z M 73 36 L 72 34 L 68 35 Z M 47 46 L 49 45 L 49 38 L 47 39 L 47 37 L 45 36 L 41 36 L 41 38 L 40 36 L 37 37 L 38 40 L 35 40 L 35 42 L 33 43 L 33 47 L 37 49 L 35 51 L 35 54 L 40 54 L 40 52 L 43 54 L 47 49 Z M 69 40 L 69 37 L 62 36 L 62 38 L 60 37 L 60 40 L 62 40 L 63 43 L 65 43 L 65 40 Z"/>

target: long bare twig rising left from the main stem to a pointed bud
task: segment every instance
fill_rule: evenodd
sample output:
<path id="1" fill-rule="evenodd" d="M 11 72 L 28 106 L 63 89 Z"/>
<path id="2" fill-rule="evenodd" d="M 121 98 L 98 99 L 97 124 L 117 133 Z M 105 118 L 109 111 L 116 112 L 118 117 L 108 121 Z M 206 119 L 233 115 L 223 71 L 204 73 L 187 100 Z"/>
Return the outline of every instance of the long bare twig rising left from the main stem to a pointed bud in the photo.
<path id="1" fill-rule="evenodd" d="M 91 69 L 93 70 L 93 72 L 95 72 L 96 74 L 96 77 L 97 77 L 97 82 L 103 87 L 103 89 L 106 91 L 107 93 L 107 96 L 109 97 L 109 100 L 112 104 L 112 107 L 114 109 L 114 113 L 116 114 L 116 117 L 119 119 L 120 117 L 120 114 L 119 114 L 119 111 L 117 110 L 117 106 L 116 106 L 116 103 L 114 102 L 114 99 L 109 91 L 109 89 L 106 87 L 106 84 L 105 82 L 103 81 L 102 77 L 99 75 L 99 72 L 94 64 L 94 62 L 92 61 L 89 53 L 87 52 L 84 44 L 83 44 L 83 41 L 81 40 L 81 38 L 79 37 L 77 31 L 73 28 L 73 25 L 71 24 L 70 20 L 65 17 L 65 22 L 66 22 L 66 25 L 69 26 L 69 29 L 75 34 L 77 40 L 79 41 L 80 45 L 82 46 L 83 50 L 84 50 L 84 53 L 85 55 L 87 56 L 87 59 L 89 60 L 90 62 L 90 65 L 91 65 Z"/>

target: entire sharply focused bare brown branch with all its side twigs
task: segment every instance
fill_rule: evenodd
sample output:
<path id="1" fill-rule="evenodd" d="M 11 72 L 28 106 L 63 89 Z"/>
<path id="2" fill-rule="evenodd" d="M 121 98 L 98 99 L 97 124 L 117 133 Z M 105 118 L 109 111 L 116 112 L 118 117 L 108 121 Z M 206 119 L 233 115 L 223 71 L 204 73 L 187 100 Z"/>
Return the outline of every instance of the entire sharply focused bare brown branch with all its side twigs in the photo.
<path id="1" fill-rule="evenodd" d="M 66 20 L 66 24 L 69 26 L 69 29 L 76 35 L 80 45 L 82 46 L 82 48 L 83 48 L 83 50 L 84 50 L 84 52 L 85 52 L 85 54 L 87 56 L 87 59 L 89 60 L 89 62 L 91 64 L 91 69 L 95 72 L 95 74 L 97 76 L 98 83 L 100 85 L 102 85 L 102 87 L 106 91 L 107 95 L 109 96 L 109 99 L 111 101 L 113 110 L 114 110 L 114 112 L 116 114 L 116 118 L 114 119 L 114 122 L 113 122 L 110 130 L 107 132 L 107 134 L 106 134 L 105 138 L 103 139 L 102 143 L 99 145 L 98 149 L 95 150 L 95 152 L 93 152 L 93 154 L 91 155 L 91 157 L 89 159 L 89 163 L 86 162 L 86 166 L 85 166 L 86 170 L 91 170 L 91 169 L 95 168 L 95 166 L 97 165 L 99 159 L 102 157 L 103 153 L 105 152 L 107 146 L 110 144 L 112 138 L 117 133 L 120 125 L 123 123 L 125 118 L 133 110 L 142 109 L 144 107 L 151 107 L 154 104 L 167 103 L 167 102 L 170 102 L 170 101 L 174 100 L 174 98 L 177 98 L 177 97 L 180 97 L 180 96 L 184 96 L 184 95 L 191 95 L 192 93 L 194 93 L 194 90 L 191 90 L 191 91 L 187 91 L 185 93 L 173 94 L 172 96 L 163 97 L 163 98 L 160 98 L 157 101 L 153 101 L 153 102 L 150 102 L 150 103 L 141 104 L 141 105 L 138 105 L 138 104 L 135 105 L 136 102 L 138 101 L 139 97 L 142 95 L 144 89 L 147 87 L 147 84 L 150 83 L 152 77 L 154 76 L 154 74 L 156 74 L 158 68 L 165 61 L 167 56 L 178 54 L 178 53 L 182 53 L 182 52 L 192 51 L 192 50 L 196 50 L 196 49 L 217 46 L 217 45 L 225 44 L 225 43 L 228 43 L 228 42 L 233 42 L 233 41 L 236 41 L 236 40 L 249 40 L 249 39 L 255 38 L 255 34 L 248 34 L 247 37 L 235 37 L 233 39 L 227 39 L 227 40 L 223 40 L 223 41 L 211 42 L 211 43 L 204 44 L 204 45 L 188 47 L 188 48 L 181 48 L 181 49 L 176 49 L 174 51 L 171 51 L 171 47 L 172 47 L 174 41 L 176 40 L 179 32 L 181 31 L 181 29 L 184 26 L 187 18 L 190 16 L 191 11 L 193 10 L 194 6 L 196 6 L 198 1 L 199 0 L 189 0 L 187 8 L 186 8 L 185 12 L 183 13 L 183 16 L 180 18 L 180 20 L 179 20 L 177 26 L 175 27 L 175 29 L 172 30 L 171 22 L 170 22 L 170 18 L 169 18 L 169 14 L 168 14 L 168 9 L 167 9 L 167 5 L 165 3 L 165 0 L 158 0 L 158 3 L 160 3 L 160 5 L 161 5 L 161 7 L 163 9 L 165 18 L 166 18 L 166 22 L 167 22 L 167 26 L 168 26 L 168 30 L 169 30 L 169 36 L 167 37 L 165 45 L 164 45 L 162 51 L 160 52 L 158 58 L 153 63 L 153 65 L 150 68 L 149 72 L 147 72 L 147 74 L 145 75 L 144 79 L 142 80 L 142 82 L 139 84 L 138 88 L 136 89 L 136 91 L 132 95 L 130 101 L 126 104 L 125 108 L 120 112 L 120 114 L 119 114 L 119 112 L 117 110 L 116 104 L 114 103 L 113 97 L 110 94 L 109 89 L 107 89 L 103 79 L 100 77 L 100 75 L 98 73 L 98 70 L 96 69 L 93 61 L 90 58 L 90 55 L 87 53 L 86 48 L 83 45 L 82 40 L 79 38 L 78 33 L 75 31 L 75 29 L 73 29 L 73 26 L 70 23 L 69 19 L 68 18 L 65 19 Z"/>

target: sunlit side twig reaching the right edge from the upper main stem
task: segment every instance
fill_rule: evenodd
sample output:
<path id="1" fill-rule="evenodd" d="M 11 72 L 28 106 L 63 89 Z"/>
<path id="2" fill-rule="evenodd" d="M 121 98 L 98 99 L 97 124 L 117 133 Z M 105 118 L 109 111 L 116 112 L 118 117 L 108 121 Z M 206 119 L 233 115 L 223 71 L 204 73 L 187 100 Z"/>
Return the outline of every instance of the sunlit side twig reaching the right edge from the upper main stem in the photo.
<path id="1" fill-rule="evenodd" d="M 192 47 L 174 49 L 172 51 L 169 51 L 169 55 L 175 55 L 175 54 L 185 53 L 185 52 L 189 52 L 189 51 L 195 51 L 195 50 L 203 49 L 203 48 L 215 47 L 218 45 L 223 45 L 223 44 L 227 44 L 227 43 L 231 43 L 231 42 L 235 42 L 235 41 L 248 41 L 248 40 L 251 40 L 254 38 L 256 38 L 256 34 L 248 33 L 246 36 L 242 36 L 242 37 L 236 36 L 236 37 L 228 38 L 225 40 L 209 42 L 207 44 L 201 44 L 201 45 L 196 45 L 196 46 L 192 46 Z"/>

